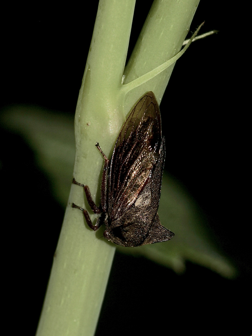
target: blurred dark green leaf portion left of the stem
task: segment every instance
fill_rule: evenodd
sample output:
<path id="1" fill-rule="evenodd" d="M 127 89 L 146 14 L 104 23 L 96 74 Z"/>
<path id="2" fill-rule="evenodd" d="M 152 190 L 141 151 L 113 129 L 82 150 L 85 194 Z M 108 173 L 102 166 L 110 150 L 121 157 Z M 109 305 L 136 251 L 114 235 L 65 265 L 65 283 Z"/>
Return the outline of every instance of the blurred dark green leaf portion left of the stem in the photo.
<path id="1" fill-rule="evenodd" d="M 13 106 L 6 109 L 1 121 L 30 144 L 55 199 L 65 208 L 73 178 L 74 118 L 38 107 Z"/>

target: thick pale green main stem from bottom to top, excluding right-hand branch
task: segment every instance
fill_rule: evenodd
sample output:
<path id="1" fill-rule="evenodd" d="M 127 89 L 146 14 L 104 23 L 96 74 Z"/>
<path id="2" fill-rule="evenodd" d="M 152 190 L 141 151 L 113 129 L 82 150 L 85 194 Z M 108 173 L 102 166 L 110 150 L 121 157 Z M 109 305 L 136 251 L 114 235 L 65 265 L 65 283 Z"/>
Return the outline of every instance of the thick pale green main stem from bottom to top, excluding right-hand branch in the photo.
<path id="1" fill-rule="evenodd" d="M 99 204 L 103 158 L 124 120 L 117 91 L 125 65 L 134 0 L 99 3 L 75 117 L 76 158 L 74 177 L 89 185 Z M 98 194 L 98 197 L 96 197 Z M 48 283 L 37 336 L 93 335 L 106 290 L 115 246 L 84 223 L 83 213 L 72 203 L 87 207 L 83 188 L 72 185 L 62 230 Z M 91 214 L 91 218 L 94 219 Z"/>

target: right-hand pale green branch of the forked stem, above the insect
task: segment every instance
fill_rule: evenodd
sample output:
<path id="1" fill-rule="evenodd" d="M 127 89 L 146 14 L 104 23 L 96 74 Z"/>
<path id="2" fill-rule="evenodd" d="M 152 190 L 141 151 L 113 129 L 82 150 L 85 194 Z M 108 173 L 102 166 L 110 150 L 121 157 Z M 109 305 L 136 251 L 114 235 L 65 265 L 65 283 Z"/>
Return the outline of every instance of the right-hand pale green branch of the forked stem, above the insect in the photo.
<path id="1" fill-rule="evenodd" d="M 124 84 L 139 78 L 176 55 L 189 31 L 199 0 L 155 0 L 124 71 Z M 129 111 L 145 92 L 153 91 L 161 102 L 175 63 L 131 90 L 125 97 Z"/>

